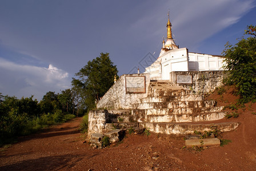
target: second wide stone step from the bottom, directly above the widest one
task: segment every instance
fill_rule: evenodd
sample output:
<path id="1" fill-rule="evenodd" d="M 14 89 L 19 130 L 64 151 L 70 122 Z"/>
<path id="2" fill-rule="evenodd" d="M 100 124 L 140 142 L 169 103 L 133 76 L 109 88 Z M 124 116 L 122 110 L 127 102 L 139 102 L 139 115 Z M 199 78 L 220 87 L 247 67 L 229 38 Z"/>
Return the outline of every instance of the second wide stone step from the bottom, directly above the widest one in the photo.
<path id="1" fill-rule="evenodd" d="M 211 112 L 198 114 L 179 114 L 179 115 L 145 115 L 137 116 L 138 121 L 147 123 L 186 123 L 198 121 L 214 121 L 225 117 L 225 112 Z"/>

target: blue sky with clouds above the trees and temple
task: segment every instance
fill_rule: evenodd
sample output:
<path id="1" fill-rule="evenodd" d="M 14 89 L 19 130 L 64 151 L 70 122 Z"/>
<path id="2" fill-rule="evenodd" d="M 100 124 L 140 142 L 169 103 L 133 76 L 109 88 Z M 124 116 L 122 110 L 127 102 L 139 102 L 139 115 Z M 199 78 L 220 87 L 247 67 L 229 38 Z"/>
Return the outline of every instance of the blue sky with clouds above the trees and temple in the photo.
<path id="1" fill-rule="evenodd" d="M 89 60 L 109 52 L 118 75 L 149 54 L 158 57 L 167 12 L 179 47 L 221 55 L 247 25 L 255 0 L 86 1 L 0 0 L 0 92 L 42 99 L 70 88 Z M 140 68 L 143 71 L 143 68 Z"/>

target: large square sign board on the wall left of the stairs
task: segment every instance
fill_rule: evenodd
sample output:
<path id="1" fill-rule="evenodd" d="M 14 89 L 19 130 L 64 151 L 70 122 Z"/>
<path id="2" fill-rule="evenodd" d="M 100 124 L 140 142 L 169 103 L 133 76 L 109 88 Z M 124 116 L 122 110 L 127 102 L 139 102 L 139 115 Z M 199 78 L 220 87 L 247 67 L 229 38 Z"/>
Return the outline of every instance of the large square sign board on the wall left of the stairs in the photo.
<path id="1" fill-rule="evenodd" d="M 126 76 L 125 88 L 126 93 L 146 93 L 146 77 Z"/>

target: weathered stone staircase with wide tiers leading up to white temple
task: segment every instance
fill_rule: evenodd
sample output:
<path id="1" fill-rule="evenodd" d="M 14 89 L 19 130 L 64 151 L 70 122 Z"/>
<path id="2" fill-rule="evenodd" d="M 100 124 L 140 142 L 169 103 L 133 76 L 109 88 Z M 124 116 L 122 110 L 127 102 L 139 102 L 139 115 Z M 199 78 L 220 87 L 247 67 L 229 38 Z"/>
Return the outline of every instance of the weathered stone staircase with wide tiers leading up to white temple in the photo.
<path id="1" fill-rule="evenodd" d="M 170 82 L 150 82 L 147 97 L 131 104 L 131 109 L 107 110 L 103 134 L 113 129 L 149 128 L 151 132 L 169 135 L 189 135 L 196 131 L 231 131 L 238 123 L 221 122 L 226 113 L 217 101 L 204 100 L 203 93 L 173 85 Z M 215 121 L 213 123 L 213 121 Z"/>

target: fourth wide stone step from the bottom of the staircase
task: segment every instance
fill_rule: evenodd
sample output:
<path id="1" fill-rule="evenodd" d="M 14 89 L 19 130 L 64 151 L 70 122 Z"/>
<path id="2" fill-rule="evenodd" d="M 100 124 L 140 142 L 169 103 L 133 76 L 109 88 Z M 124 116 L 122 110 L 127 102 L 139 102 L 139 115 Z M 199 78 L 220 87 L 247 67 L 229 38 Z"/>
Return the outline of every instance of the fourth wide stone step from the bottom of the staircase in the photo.
<path id="1" fill-rule="evenodd" d="M 200 100 L 200 101 L 171 101 L 171 102 L 150 102 L 133 104 L 134 109 L 155 109 L 155 108 L 202 108 L 215 107 L 215 100 Z"/>

